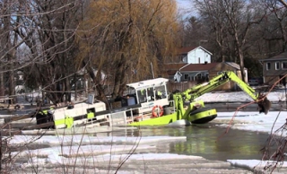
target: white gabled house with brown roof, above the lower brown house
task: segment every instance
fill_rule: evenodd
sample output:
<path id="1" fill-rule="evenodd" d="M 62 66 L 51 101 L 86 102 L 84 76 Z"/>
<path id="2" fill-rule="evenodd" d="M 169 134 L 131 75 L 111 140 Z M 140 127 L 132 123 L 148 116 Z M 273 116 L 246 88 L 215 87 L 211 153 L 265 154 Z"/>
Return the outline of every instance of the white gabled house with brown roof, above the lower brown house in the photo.
<path id="1" fill-rule="evenodd" d="M 186 47 L 178 48 L 179 61 L 187 64 L 209 64 L 211 63 L 212 53 L 205 48 L 198 47 Z"/>

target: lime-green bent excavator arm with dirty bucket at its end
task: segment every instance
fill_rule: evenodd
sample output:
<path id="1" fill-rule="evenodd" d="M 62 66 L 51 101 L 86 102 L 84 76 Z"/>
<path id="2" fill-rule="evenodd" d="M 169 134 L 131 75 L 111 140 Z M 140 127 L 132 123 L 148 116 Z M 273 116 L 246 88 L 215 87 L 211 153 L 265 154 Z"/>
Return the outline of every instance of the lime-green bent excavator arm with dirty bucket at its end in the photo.
<path id="1" fill-rule="evenodd" d="M 197 84 L 195 87 L 182 92 L 182 96 L 187 101 L 193 101 L 196 98 L 204 95 L 209 91 L 213 91 L 224 83 L 234 82 L 239 85 L 242 91 L 245 91 L 255 102 L 257 102 L 259 107 L 259 112 L 268 113 L 271 108 L 271 102 L 266 99 L 265 95 L 262 95 L 251 88 L 247 83 L 244 83 L 236 74 L 231 71 L 222 72 L 215 76 L 211 81 L 207 83 Z"/>

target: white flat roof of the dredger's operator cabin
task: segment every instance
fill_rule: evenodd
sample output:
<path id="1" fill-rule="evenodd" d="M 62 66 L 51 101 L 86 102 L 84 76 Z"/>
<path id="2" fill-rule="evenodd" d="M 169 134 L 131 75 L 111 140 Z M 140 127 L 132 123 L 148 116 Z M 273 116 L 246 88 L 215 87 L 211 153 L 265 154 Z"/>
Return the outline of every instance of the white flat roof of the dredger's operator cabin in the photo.
<path id="1" fill-rule="evenodd" d="M 128 83 L 126 86 L 135 88 L 135 90 L 148 88 L 151 86 L 161 86 L 165 85 L 167 82 L 169 82 L 169 79 L 166 78 L 156 78 L 151 80 L 145 80 L 138 83 Z"/>

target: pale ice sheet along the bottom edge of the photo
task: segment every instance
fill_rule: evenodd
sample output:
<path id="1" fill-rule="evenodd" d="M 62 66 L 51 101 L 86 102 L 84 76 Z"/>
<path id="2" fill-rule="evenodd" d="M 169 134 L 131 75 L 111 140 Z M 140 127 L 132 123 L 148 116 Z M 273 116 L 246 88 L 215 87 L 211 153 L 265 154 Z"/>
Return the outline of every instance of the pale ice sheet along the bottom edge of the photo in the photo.
<path id="1" fill-rule="evenodd" d="M 45 168 L 38 167 L 39 173 L 172 173 L 172 174 L 251 174 L 253 172 L 234 168 L 229 162 L 207 161 L 198 156 L 170 155 L 170 154 L 133 154 L 126 160 L 127 154 L 102 156 L 95 165 L 91 161 L 84 164 L 72 164 L 59 166 L 55 164 L 46 164 Z M 106 158 L 105 158 L 106 157 Z M 126 161 L 124 161 L 126 160 Z M 32 173 L 32 167 L 25 167 L 22 170 L 25 173 Z M 70 172 L 68 172 L 70 171 Z M 14 172 L 15 174 L 18 172 Z"/>

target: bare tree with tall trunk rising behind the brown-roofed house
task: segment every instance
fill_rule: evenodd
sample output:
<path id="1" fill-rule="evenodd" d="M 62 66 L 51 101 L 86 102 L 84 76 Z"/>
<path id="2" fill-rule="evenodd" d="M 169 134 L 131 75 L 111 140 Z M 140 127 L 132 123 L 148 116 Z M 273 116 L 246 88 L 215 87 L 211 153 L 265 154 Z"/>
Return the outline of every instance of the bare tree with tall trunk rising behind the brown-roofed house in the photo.
<path id="1" fill-rule="evenodd" d="M 245 81 L 244 49 L 250 28 L 261 22 L 265 13 L 258 13 L 255 1 L 245 0 L 195 0 L 200 14 L 213 26 L 216 44 L 225 59 L 226 50 L 234 48 L 234 62 L 239 58 L 241 78 Z M 205 20 L 205 21 L 206 21 Z"/>

